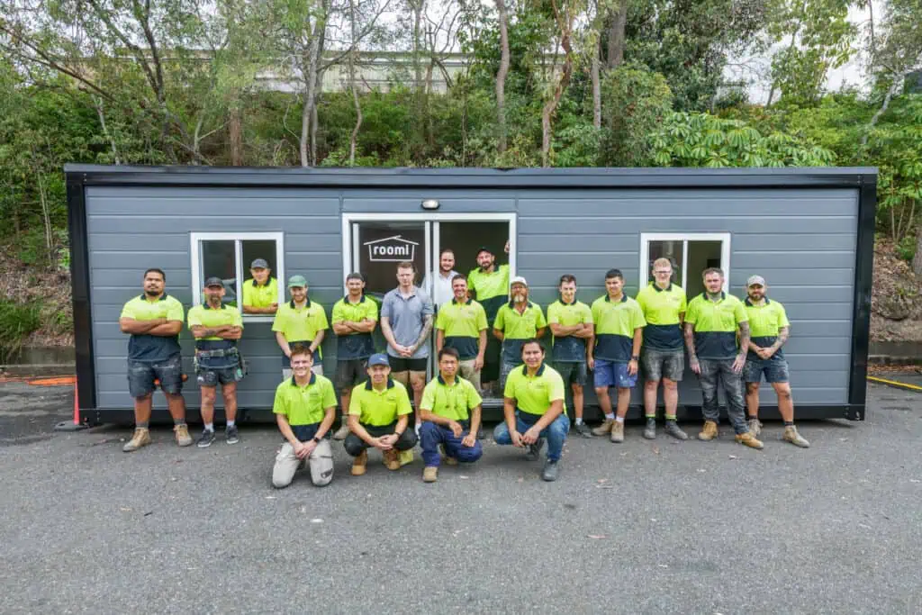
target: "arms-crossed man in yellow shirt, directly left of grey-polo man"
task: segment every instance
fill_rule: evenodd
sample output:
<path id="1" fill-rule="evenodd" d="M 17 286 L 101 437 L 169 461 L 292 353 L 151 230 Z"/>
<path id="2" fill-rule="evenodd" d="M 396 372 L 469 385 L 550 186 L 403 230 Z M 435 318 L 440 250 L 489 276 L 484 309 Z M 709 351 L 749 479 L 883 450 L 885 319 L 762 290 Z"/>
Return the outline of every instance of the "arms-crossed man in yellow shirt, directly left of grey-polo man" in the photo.
<path id="1" fill-rule="evenodd" d="M 333 434 L 336 440 L 349 434 L 349 395 L 357 380 L 368 373 L 368 358 L 374 352 L 372 331 L 378 325 L 378 304 L 365 296 L 365 278 L 361 273 L 346 277 L 345 297 L 333 306 L 333 332 L 337 334 L 337 377 L 342 408 L 342 422 Z M 389 372 L 389 368 L 388 368 Z"/>

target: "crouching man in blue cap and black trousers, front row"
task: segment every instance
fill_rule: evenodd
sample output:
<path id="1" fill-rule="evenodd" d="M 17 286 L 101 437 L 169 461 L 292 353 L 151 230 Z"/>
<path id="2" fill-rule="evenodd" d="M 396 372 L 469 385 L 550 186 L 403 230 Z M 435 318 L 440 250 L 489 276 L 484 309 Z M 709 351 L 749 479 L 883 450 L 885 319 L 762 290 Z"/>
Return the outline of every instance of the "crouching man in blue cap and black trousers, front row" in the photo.
<path id="1" fill-rule="evenodd" d="M 368 360 L 368 380 L 352 389 L 349 398 L 349 435 L 344 446 L 352 462 L 352 475 L 361 476 L 368 465 L 368 448 L 379 449 L 384 466 L 400 469 L 399 453 L 417 443 L 416 432 L 409 428 L 407 387 L 390 377 L 391 368 L 384 353 Z"/>

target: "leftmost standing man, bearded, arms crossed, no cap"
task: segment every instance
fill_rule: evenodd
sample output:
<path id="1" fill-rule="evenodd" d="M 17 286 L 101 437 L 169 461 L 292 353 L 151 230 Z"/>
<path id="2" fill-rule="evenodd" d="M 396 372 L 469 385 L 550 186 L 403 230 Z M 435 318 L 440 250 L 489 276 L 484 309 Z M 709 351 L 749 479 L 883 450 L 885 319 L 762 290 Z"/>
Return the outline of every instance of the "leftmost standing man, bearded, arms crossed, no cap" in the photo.
<path id="1" fill-rule="evenodd" d="M 161 269 L 144 272 L 144 293 L 124 304 L 118 324 L 128 339 L 128 392 L 135 398 L 135 434 L 122 447 L 125 453 L 150 444 L 150 411 L 155 381 L 167 398 L 176 444 L 192 444 L 185 423 L 183 363 L 179 333 L 183 330 L 183 304 L 169 296 Z"/>

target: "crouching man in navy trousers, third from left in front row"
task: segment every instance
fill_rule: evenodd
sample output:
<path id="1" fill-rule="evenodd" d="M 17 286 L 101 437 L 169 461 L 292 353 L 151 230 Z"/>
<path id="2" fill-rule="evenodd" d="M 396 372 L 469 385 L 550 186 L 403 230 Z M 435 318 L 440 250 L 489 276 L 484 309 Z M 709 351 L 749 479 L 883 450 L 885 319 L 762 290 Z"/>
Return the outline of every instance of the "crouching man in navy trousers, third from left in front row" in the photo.
<path id="1" fill-rule="evenodd" d="M 439 444 L 445 450 L 445 463 L 473 463 L 483 455 L 477 440 L 480 426 L 480 399 L 477 389 L 457 375 L 461 364 L 458 351 L 439 350 L 439 375 L 426 384 L 420 403 L 420 444 L 424 482 L 439 477 Z"/>

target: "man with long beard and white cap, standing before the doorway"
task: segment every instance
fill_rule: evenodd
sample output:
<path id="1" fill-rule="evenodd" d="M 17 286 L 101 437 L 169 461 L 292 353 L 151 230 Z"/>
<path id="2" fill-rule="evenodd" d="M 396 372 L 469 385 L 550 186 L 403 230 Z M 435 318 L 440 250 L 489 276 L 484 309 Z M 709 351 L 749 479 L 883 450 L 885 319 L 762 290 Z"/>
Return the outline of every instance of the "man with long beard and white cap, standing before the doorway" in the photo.
<path id="1" fill-rule="evenodd" d="M 502 390 L 505 390 L 509 373 L 522 364 L 522 344 L 527 339 L 543 336 L 548 326 L 541 306 L 528 301 L 528 282 L 525 278 L 513 278 L 510 295 L 512 300 L 502 304 L 493 322 L 493 336 L 502 342 Z"/>

